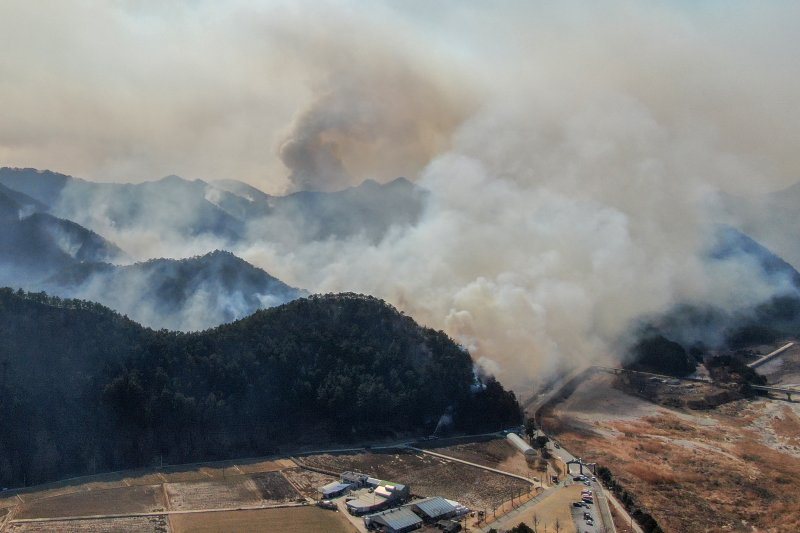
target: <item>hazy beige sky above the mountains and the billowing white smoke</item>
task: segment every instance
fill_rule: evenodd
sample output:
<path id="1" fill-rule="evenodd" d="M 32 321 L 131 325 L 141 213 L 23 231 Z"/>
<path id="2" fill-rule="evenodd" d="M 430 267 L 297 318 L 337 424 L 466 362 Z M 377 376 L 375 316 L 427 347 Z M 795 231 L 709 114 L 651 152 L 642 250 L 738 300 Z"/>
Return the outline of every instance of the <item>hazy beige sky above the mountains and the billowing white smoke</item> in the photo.
<path id="1" fill-rule="evenodd" d="M 334 189 L 415 178 L 487 106 L 577 108 L 606 93 L 670 127 L 705 129 L 758 160 L 752 179 L 783 184 L 800 162 L 799 11 L 788 1 L 5 0 L 0 161 L 96 180 Z"/>

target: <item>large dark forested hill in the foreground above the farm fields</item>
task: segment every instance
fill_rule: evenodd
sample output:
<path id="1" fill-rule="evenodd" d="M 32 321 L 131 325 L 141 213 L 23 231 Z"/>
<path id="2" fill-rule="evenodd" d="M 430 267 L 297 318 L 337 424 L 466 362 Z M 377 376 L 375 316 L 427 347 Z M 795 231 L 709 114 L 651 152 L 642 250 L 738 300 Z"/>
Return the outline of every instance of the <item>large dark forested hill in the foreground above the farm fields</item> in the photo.
<path id="1" fill-rule="evenodd" d="M 304 298 L 202 333 L 0 290 L 0 484 L 519 421 L 469 354 L 384 302 Z"/>

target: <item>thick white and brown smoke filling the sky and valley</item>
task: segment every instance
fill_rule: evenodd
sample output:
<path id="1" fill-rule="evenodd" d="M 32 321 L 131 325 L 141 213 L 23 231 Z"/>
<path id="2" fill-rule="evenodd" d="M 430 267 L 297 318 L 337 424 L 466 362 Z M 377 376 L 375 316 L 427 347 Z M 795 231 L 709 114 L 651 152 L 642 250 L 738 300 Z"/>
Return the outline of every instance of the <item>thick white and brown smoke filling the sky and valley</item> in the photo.
<path id="1" fill-rule="evenodd" d="M 424 209 L 379 239 L 268 217 L 235 246 L 90 229 L 137 260 L 224 247 L 292 286 L 374 294 L 512 385 L 613 355 L 643 315 L 795 290 L 706 251 L 738 225 L 720 192 L 798 178 L 799 6 L 249 4 L 4 3 L 0 159 L 270 193 L 406 176 Z"/>

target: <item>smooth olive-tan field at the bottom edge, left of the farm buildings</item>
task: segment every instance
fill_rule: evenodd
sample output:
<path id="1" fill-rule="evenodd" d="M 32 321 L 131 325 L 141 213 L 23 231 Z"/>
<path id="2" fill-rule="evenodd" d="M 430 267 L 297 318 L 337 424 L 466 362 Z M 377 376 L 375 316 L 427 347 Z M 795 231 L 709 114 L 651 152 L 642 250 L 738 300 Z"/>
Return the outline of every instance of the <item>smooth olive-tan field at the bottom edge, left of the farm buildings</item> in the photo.
<path id="1" fill-rule="evenodd" d="M 318 507 L 289 507 L 170 516 L 174 533 L 357 533 L 341 513 Z"/>

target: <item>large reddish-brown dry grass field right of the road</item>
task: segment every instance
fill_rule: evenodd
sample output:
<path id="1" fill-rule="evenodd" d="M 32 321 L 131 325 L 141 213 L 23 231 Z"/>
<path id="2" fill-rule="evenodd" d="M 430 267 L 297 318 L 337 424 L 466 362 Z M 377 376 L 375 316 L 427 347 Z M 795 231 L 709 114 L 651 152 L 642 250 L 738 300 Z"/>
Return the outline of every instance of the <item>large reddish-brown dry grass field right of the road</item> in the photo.
<path id="1" fill-rule="evenodd" d="M 608 466 L 665 531 L 800 531 L 800 404 L 656 406 L 595 376 L 543 422 L 572 453 Z M 625 409 L 604 409 L 608 404 Z"/>

